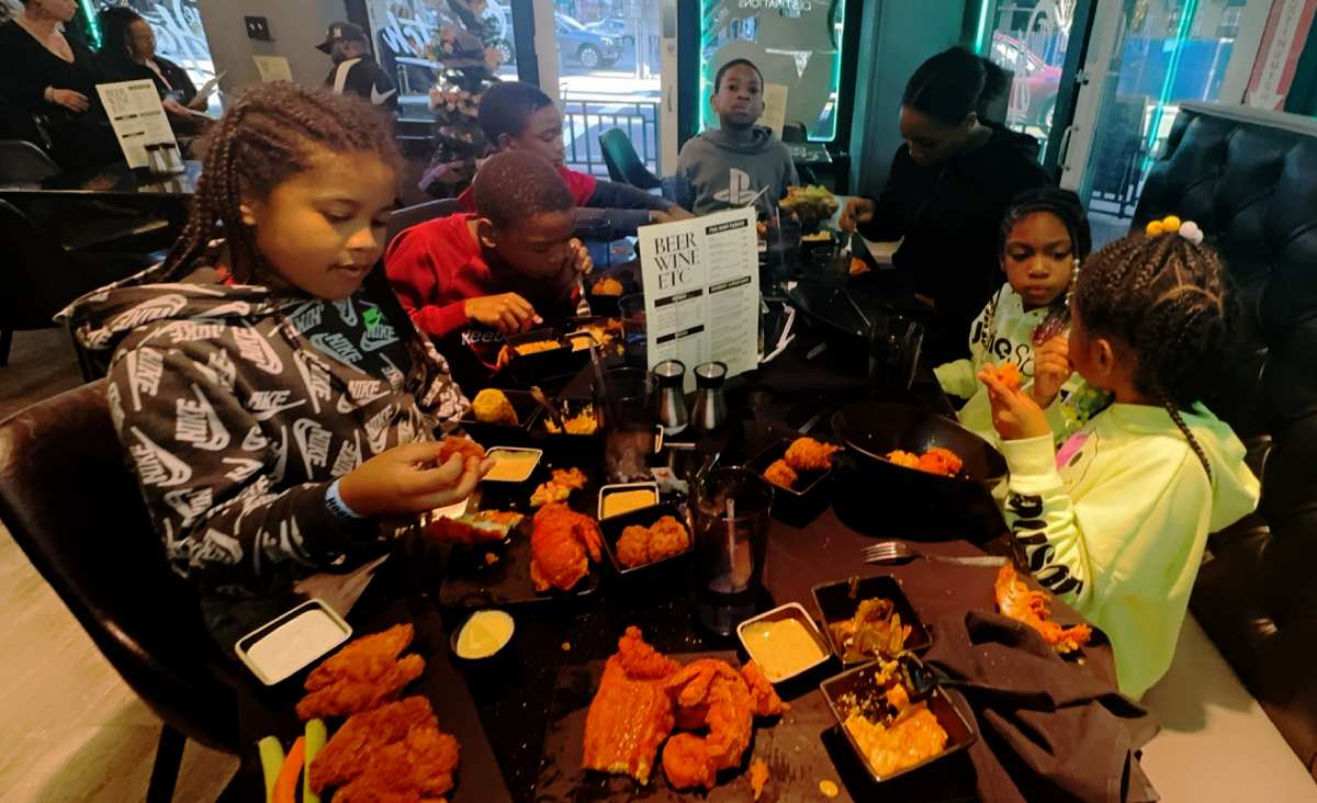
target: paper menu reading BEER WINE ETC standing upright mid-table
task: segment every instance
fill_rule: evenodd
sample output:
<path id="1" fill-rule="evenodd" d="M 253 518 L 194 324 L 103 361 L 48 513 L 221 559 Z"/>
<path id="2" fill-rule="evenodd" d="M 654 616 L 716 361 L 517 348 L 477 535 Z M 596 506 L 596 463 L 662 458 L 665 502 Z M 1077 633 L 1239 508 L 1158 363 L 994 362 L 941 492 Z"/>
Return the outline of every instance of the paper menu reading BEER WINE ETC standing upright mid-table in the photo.
<path id="1" fill-rule="evenodd" d="M 649 367 L 664 359 L 694 367 L 727 363 L 735 376 L 759 365 L 759 255 L 755 209 L 641 226 Z"/>

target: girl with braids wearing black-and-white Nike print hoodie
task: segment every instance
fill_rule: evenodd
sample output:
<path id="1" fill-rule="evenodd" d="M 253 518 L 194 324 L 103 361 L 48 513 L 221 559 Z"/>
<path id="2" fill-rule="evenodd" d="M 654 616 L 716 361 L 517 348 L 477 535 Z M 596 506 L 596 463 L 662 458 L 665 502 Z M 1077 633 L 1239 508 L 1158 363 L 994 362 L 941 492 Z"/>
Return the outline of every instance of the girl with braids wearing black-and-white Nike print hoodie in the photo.
<path id="1" fill-rule="evenodd" d="M 466 400 L 373 267 L 396 151 L 365 103 L 250 90 L 211 132 L 165 262 L 62 313 L 112 354 L 105 396 L 174 570 L 230 646 L 356 569 L 487 465 L 439 465 Z M 344 583 L 338 583 L 338 591 Z M 341 600 L 346 606 L 346 600 Z"/>

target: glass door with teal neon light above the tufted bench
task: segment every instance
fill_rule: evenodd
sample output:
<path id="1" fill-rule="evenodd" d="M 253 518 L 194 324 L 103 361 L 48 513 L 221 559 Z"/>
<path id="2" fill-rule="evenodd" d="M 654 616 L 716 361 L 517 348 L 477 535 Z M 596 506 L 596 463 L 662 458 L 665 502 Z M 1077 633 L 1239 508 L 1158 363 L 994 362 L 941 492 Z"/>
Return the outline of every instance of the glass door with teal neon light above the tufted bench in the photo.
<path id="1" fill-rule="evenodd" d="M 1080 99 L 1076 136 L 1063 154 L 1062 186 L 1088 204 L 1093 245 L 1129 232 L 1148 168 L 1171 132 L 1180 103 L 1230 100 L 1222 84 L 1231 59 L 1251 66 L 1256 42 L 1241 32 L 1246 13 L 1270 0 L 1112 0 L 1102 3 L 1090 80 Z M 1092 121 L 1089 125 L 1088 121 Z M 1079 132 L 1090 132 L 1079 136 Z"/>

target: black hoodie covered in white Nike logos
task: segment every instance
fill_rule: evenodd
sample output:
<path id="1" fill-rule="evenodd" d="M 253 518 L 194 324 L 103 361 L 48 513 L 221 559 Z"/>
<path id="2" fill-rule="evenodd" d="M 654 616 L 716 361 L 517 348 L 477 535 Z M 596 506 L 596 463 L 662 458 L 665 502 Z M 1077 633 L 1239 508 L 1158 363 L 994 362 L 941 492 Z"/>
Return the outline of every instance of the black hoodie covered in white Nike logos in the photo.
<path id="1" fill-rule="evenodd" d="M 112 353 L 105 396 L 151 520 L 232 642 L 281 612 L 240 600 L 286 600 L 300 578 L 387 552 L 378 523 L 336 519 L 325 490 L 431 440 L 466 400 L 382 274 L 342 301 L 225 284 L 208 266 L 158 275 L 91 292 L 61 319 Z"/>

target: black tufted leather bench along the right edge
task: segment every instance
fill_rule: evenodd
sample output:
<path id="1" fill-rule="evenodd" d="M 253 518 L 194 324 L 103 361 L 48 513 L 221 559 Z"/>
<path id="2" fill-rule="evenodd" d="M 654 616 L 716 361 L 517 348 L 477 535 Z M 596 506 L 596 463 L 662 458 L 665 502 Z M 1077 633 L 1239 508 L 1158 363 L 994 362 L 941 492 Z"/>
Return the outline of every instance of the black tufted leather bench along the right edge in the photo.
<path id="1" fill-rule="evenodd" d="M 1235 332 L 1204 402 L 1263 487 L 1210 537 L 1192 609 L 1317 778 L 1317 120 L 1184 104 L 1134 225 L 1171 213 L 1226 258 Z"/>

